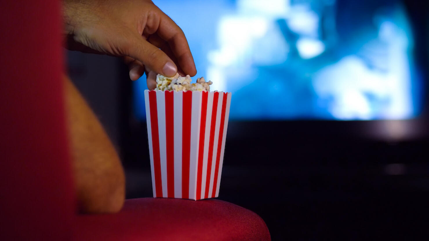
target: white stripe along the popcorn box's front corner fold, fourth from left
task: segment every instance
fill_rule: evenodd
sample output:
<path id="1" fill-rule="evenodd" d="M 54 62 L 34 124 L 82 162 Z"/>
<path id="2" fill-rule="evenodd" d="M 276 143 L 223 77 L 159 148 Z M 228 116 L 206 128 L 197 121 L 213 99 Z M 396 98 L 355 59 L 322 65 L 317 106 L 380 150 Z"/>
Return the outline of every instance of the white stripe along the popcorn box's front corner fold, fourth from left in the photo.
<path id="1" fill-rule="evenodd" d="M 198 172 L 199 124 L 201 122 L 201 91 L 192 92 L 190 130 L 189 199 L 196 199 L 196 175 Z"/>

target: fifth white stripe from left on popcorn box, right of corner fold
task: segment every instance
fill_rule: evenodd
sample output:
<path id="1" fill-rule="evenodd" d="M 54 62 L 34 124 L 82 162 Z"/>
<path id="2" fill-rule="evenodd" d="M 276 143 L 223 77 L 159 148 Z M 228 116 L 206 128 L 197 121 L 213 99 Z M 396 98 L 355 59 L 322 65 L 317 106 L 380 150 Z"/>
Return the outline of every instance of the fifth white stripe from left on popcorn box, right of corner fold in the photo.
<path id="1" fill-rule="evenodd" d="M 208 92 L 208 95 L 207 95 L 207 113 L 205 116 L 204 155 L 202 158 L 201 199 L 204 198 L 205 180 L 207 179 L 208 143 L 210 140 L 210 125 L 211 125 L 211 110 L 212 109 L 213 109 L 213 92 Z"/>

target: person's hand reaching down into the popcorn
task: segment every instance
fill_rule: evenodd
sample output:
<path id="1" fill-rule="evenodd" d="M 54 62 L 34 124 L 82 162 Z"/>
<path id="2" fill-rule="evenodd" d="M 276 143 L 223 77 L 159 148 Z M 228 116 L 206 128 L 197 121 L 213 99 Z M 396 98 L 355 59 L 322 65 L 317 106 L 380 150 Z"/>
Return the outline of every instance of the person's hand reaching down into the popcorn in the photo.
<path id="1" fill-rule="evenodd" d="M 64 0 L 67 48 L 124 57 L 130 79 L 196 74 L 183 31 L 151 0 Z"/>

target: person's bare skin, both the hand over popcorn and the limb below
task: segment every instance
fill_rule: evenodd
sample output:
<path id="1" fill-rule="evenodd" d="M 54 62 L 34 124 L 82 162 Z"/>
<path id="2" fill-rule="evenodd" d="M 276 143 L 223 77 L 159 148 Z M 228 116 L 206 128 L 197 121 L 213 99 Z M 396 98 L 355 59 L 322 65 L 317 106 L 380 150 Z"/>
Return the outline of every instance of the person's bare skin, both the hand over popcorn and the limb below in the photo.
<path id="1" fill-rule="evenodd" d="M 69 50 L 122 57 L 130 79 L 146 72 L 196 74 L 183 31 L 150 0 L 64 0 L 64 39 Z M 67 126 L 79 212 L 114 213 L 125 197 L 118 154 L 85 99 L 65 77 Z"/>

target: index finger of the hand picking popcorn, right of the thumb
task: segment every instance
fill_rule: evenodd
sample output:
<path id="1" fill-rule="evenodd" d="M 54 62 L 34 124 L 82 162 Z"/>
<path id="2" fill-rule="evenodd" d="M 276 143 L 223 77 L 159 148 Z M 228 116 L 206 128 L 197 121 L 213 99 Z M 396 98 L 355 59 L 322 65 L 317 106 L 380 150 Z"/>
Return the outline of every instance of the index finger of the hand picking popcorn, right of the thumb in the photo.
<path id="1" fill-rule="evenodd" d="M 185 74 L 194 76 L 196 74 L 195 63 L 193 62 L 188 42 L 181 28 L 169 16 L 162 14 L 157 34 L 161 39 L 168 42 L 178 64 Z"/>

